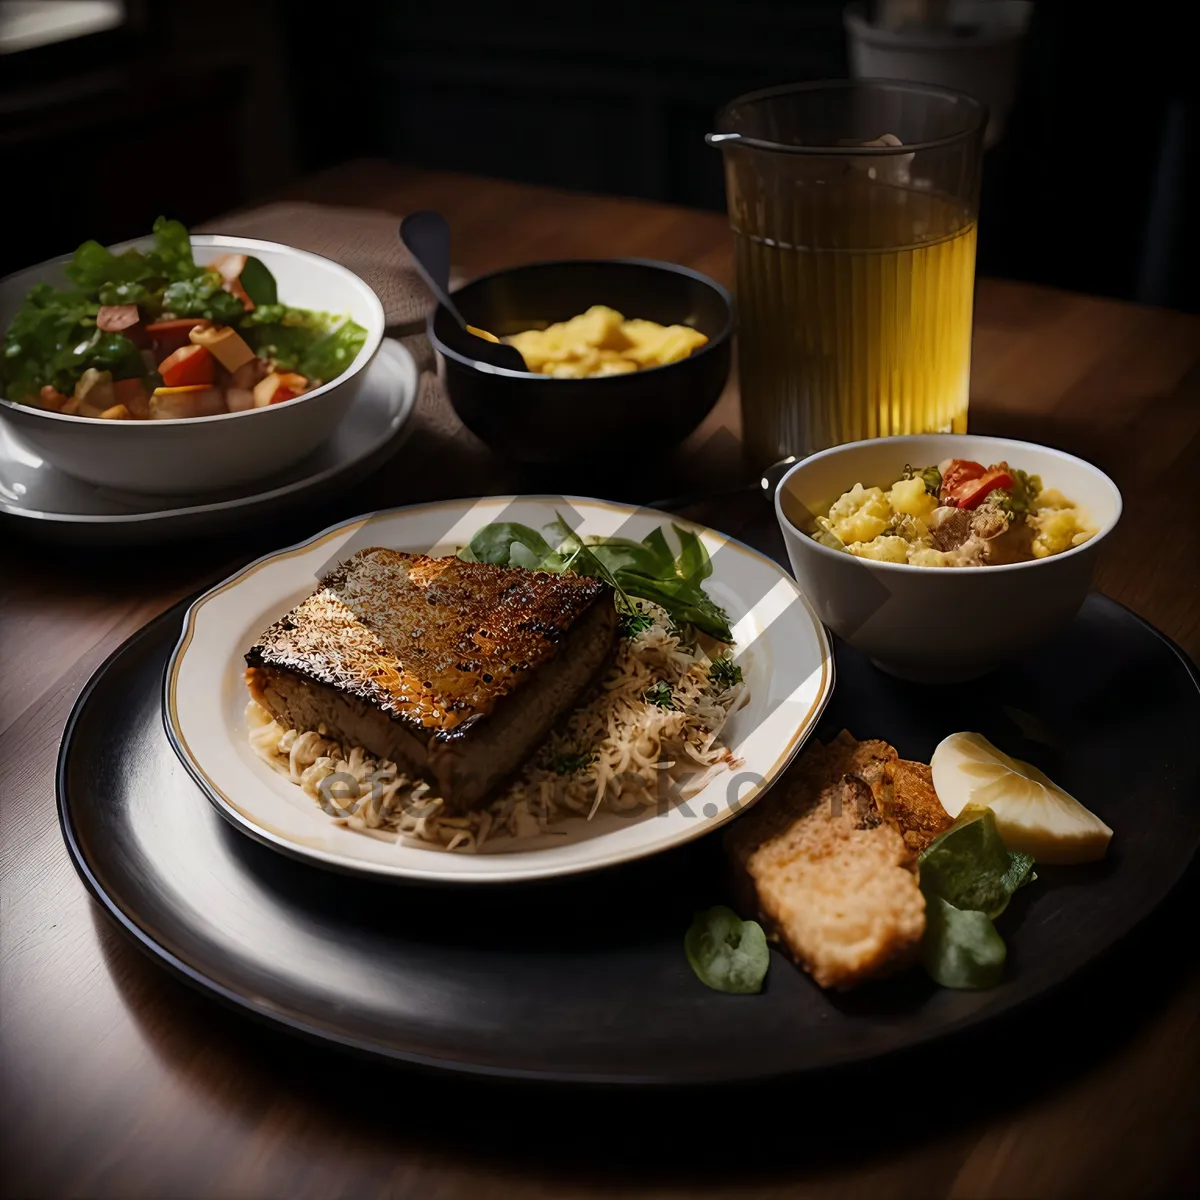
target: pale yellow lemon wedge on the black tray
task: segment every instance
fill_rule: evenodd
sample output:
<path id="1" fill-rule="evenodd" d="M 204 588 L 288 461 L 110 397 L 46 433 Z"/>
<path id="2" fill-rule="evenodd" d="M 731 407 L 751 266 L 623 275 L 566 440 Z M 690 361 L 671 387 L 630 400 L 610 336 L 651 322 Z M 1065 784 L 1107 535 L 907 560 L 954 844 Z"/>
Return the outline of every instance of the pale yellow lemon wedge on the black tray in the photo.
<path id="1" fill-rule="evenodd" d="M 980 733 L 952 733 L 930 767 L 942 808 L 952 817 L 968 804 L 991 809 L 1009 850 L 1048 864 L 1091 863 L 1108 850 L 1112 830 L 1094 812 Z"/>

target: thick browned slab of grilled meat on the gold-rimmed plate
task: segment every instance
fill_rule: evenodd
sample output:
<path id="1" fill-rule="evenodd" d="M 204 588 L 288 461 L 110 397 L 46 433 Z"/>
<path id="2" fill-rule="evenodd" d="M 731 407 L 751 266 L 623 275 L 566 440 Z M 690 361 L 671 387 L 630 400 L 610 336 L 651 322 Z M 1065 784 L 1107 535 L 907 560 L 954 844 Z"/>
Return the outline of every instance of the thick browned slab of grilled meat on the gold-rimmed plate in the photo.
<path id="1" fill-rule="evenodd" d="M 616 637 L 598 580 L 377 547 L 262 635 L 246 682 L 281 724 L 391 758 L 461 812 L 578 703 Z"/>

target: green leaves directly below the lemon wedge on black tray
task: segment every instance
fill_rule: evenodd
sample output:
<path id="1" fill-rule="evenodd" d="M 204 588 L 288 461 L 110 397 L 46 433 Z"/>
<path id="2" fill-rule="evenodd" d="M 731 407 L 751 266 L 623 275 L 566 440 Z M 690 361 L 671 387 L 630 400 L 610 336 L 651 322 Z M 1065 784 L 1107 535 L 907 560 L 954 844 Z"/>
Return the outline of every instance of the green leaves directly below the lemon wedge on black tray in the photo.
<path id="1" fill-rule="evenodd" d="M 925 847 L 922 961 L 943 988 L 992 988 L 1004 966 L 1004 941 L 992 924 L 1018 888 L 1031 883 L 1031 856 L 1010 851 L 991 809 L 973 805 Z"/>

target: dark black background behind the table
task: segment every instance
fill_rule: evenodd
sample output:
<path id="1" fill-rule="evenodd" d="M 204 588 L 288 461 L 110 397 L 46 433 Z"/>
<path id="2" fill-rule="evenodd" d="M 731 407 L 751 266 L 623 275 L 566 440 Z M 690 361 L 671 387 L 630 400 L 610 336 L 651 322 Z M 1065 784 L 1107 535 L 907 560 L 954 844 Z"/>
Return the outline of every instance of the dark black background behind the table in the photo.
<path id="1" fill-rule="evenodd" d="M 847 73 L 842 0 L 128 0 L 0 56 L 0 271 L 373 156 L 719 209 L 739 92 Z M 1034 7 L 984 274 L 1200 308 L 1187 6 Z"/>

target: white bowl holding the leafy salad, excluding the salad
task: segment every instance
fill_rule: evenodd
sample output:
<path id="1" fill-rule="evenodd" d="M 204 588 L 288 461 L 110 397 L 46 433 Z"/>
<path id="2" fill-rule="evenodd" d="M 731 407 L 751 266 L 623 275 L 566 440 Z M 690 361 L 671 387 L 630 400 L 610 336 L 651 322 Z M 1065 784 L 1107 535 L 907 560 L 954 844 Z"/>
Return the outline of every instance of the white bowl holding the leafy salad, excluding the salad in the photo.
<path id="1" fill-rule="evenodd" d="M 145 250 L 151 238 L 118 250 Z M 98 421 L 64 416 L 0 400 L 0 420 L 40 457 L 77 479 L 122 492 L 186 496 L 241 487 L 266 479 L 312 454 L 346 415 L 362 384 L 364 368 L 383 338 L 379 298 L 344 266 L 256 238 L 192 234 L 197 263 L 230 251 L 253 254 L 270 269 L 282 302 L 353 317 L 367 340 L 350 368 L 295 400 L 246 413 L 169 421 Z M 0 329 L 7 329 L 35 283 L 71 287 L 62 274 L 70 257 L 0 281 Z"/>

